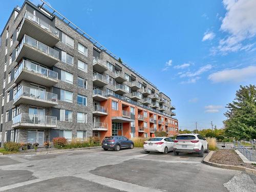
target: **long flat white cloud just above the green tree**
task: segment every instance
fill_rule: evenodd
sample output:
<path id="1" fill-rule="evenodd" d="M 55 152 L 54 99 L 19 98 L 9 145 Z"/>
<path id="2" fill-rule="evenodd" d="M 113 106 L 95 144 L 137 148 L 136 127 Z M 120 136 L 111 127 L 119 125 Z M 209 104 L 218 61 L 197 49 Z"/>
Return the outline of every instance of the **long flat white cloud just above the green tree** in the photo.
<path id="1" fill-rule="evenodd" d="M 256 66 L 248 66 L 242 69 L 226 69 L 208 76 L 208 79 L 212 82 L 239 82 L 251 78 L 256 79 Z"/>

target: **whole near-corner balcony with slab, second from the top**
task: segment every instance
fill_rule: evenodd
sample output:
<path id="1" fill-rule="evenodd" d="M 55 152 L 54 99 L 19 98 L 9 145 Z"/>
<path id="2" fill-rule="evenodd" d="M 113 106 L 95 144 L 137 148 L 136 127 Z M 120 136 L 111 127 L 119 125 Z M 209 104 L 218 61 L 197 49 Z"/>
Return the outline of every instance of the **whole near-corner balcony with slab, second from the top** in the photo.
<path id="1" fill-rule="evenodd" d="M 59 62 L 59 52 L 57 50 L 42 44 L 28 35 L 24 35 L 22 41 L 16 48 L 15 61 L 19 62 L 24 57 L 47 67 L 52 67 Z"/>

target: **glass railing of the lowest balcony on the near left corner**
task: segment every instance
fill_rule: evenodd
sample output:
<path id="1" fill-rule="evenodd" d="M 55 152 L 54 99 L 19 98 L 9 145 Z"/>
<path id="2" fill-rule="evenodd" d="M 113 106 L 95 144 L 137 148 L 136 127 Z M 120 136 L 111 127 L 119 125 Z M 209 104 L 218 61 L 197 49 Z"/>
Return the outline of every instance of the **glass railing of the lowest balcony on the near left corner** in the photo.
<path id="1" fill-rule="evenodd" d="M 17 116 L 13 117 L 12 119 L 12 124 L 16 124 L 16 123 L 56 125 L 57 117 L 20 113 Z"/>

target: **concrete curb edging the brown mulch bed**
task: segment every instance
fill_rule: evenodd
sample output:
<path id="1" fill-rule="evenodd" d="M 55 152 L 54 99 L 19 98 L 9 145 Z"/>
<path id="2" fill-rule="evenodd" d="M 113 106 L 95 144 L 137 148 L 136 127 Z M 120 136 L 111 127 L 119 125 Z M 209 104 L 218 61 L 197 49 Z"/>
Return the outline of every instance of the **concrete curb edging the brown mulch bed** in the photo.
<path id="1" fill-rule="evenodd" d="M 203 163 L 206 165 L 218 167 L 218 168 L 225 168 L 225 169 L 231 169 L 231 170 L 240 170 L 246 173 L 254 174 L 256 175 L 256 169 L 237 166 L 237 165 L 225 165 L 225 164 L 219 164 L 219 163 L 212 163 L 209 162 L 211 156 L 214 154 L 214 151 L 210 151 L 209 154 L 203 159 Z"/>

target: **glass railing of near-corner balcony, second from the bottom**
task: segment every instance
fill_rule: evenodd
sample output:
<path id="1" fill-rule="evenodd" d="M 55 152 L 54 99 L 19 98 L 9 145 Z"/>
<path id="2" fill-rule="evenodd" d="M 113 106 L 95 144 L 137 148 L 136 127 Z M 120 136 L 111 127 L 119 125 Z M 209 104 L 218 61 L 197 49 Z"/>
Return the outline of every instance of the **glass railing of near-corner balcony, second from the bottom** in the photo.
<path id="1" fill-rule="evenodd" d="M 57 94 L 46 92 L 43 90 L 37 90 L 34 88 L 25 87 L 25 86 L 22 86 L 14 95 L 13 97 L 14 102 L 17 101 L 23 95 L 31 98 L 38 98 L 38 99 L 44 99 L 46 101 L 57 102 Z"/>

